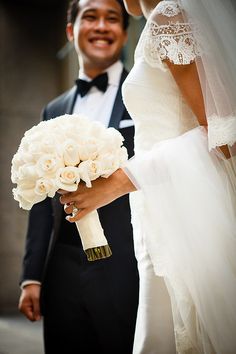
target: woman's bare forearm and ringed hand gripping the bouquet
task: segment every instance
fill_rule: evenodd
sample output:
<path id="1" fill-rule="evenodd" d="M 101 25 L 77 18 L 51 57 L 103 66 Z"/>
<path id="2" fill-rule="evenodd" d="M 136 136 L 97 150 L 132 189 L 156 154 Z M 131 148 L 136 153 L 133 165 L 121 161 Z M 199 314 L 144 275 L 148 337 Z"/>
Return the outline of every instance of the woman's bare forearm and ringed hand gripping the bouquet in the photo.
<path id="1" fill-rule="evenodd" d="M 67 214 L 73 213 L 74 207 L 78 212 L 67 216 L 67 220 L 75 222 L 90 213 L 111 203 L 113 200 L 135 191 L 136 188 L 124 173 L 118 169 L 108 178 L 98 178 L 92 182 L 92 188 L 87 188 L 85 183 L 80 183 L 77 191 L 70 192 L 60 197 Z"/>

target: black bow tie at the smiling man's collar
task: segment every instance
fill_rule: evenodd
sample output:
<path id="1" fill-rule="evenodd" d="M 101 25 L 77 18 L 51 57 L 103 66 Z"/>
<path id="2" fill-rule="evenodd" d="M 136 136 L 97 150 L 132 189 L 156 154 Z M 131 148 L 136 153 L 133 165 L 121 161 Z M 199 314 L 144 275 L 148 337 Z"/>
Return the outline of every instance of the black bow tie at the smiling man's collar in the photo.
<path id="1" fill-rule="evenodd" d="M 96 86 L 100 91 L 105 92 L 108 85 L 108 75 L 103 73 L 95 77 L 92 81 L 85 81 L 82 79 L 77 79 L 77 92 L 81 97 L 84 97 L 92 86 Z"/>

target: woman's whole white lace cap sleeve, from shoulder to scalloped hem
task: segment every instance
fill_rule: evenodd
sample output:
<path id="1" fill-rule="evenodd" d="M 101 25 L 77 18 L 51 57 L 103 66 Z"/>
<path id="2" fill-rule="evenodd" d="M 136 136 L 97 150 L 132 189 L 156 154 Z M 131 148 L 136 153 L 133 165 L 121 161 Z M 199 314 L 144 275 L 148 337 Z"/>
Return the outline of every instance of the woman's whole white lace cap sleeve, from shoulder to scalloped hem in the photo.
<path id="1" fill-rule="evenodd" d="M 145 33 L 144 57 L 154 67 L 163 60 L 177 65 L 190 64 L 200 54 L 193 24 L 185 22 L 176 1 L 161 1 L 150 16 Z"/>

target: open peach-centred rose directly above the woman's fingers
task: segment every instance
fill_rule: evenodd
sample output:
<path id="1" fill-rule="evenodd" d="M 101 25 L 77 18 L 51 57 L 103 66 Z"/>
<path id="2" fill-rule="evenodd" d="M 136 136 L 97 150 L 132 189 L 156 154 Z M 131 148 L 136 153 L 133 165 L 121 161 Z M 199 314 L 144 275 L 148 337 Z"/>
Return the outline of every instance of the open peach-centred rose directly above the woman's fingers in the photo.
<path id="1" fill-rule="evenodd" d="M 80 181 L 79 170 L 74 166 L 60 168 L 56 173 L 56 181 L 58 189 L 64 189 L 68 192 L 77 190 Z"/>

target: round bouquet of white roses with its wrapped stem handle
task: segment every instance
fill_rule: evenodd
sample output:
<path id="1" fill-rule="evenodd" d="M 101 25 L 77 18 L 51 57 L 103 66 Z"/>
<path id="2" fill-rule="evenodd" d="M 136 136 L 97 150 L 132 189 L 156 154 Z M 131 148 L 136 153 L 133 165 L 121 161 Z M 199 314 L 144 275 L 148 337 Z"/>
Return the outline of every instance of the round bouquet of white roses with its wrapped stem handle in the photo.
<path id="1" fill-rule="evenodd" d="M 80 181 L 109 177 L 127 160 L 122 135 L 114 128 L 77 114 L 41 121 L 25 132 L 12 159 L 13 196 L 21 208 L 30 210 L 57 190 L 72 192 Z M 88 260 L 109 257 L 97 211 L 76 222 Z"/>

